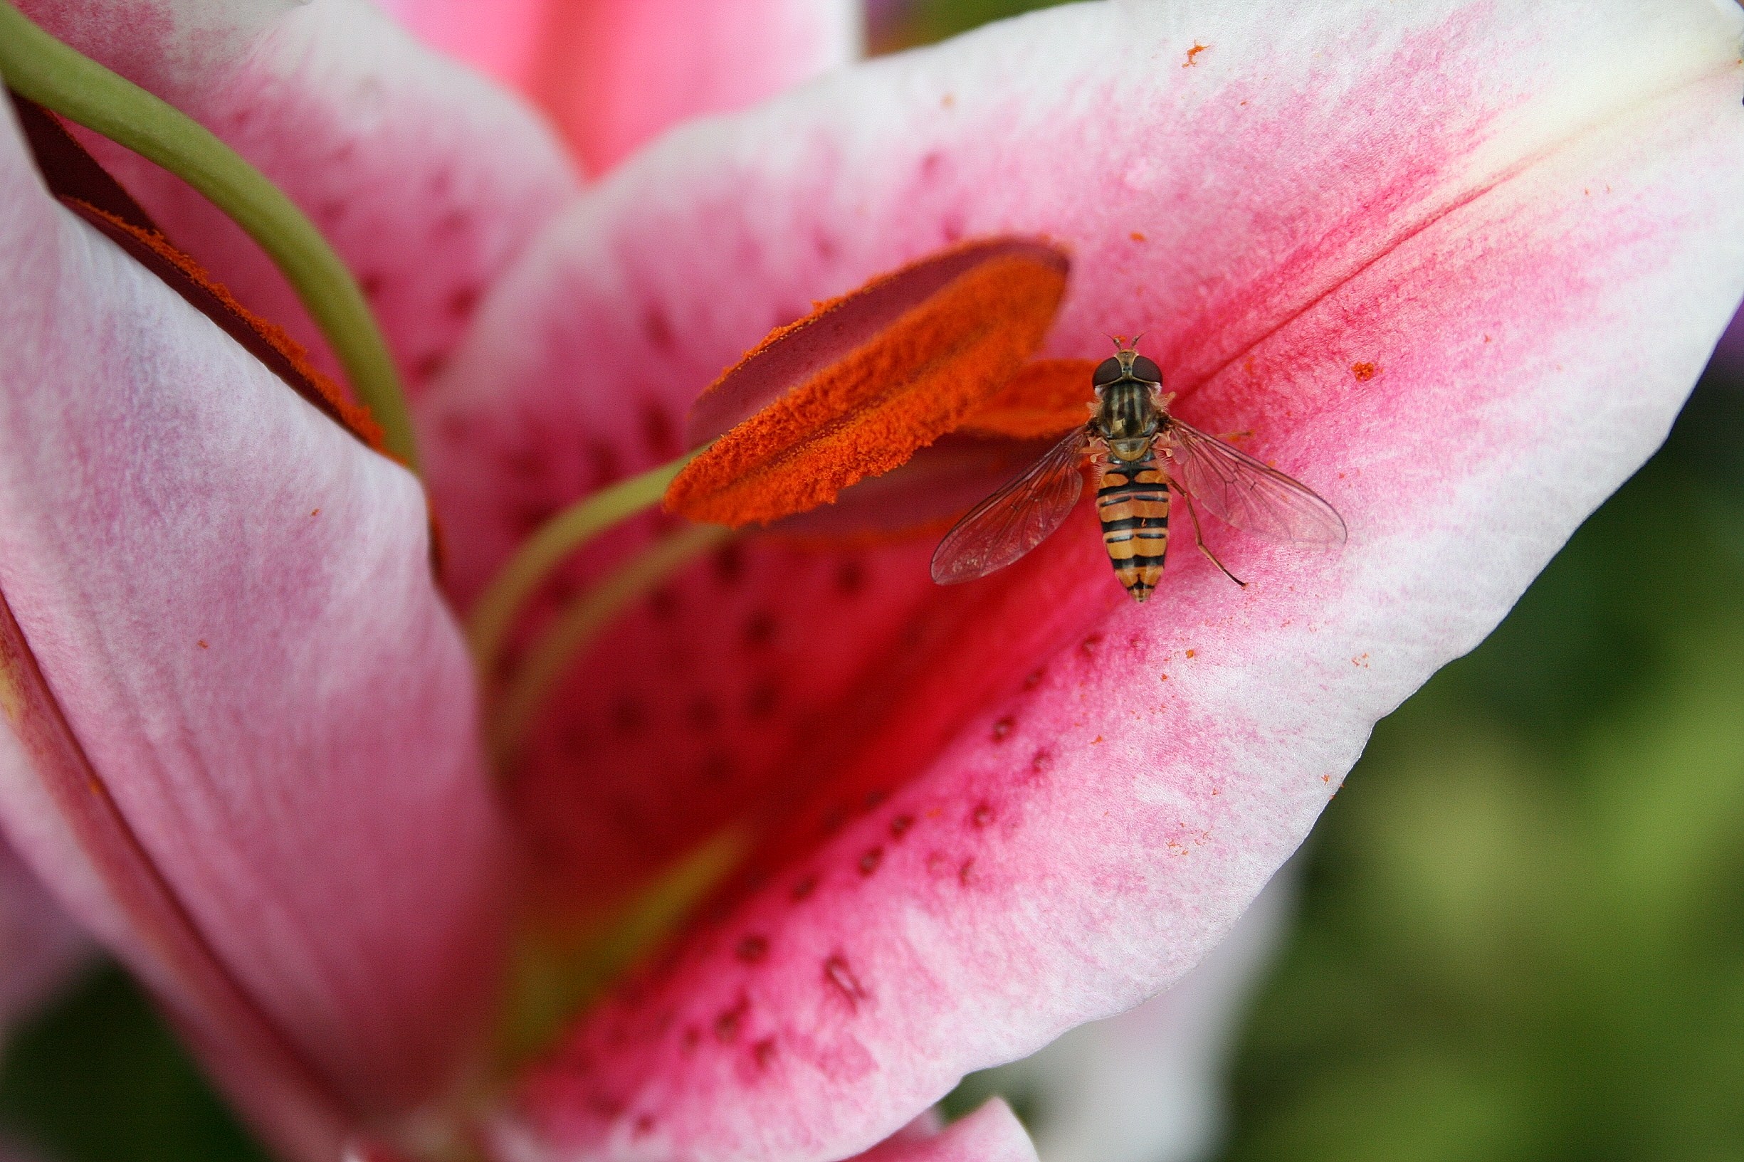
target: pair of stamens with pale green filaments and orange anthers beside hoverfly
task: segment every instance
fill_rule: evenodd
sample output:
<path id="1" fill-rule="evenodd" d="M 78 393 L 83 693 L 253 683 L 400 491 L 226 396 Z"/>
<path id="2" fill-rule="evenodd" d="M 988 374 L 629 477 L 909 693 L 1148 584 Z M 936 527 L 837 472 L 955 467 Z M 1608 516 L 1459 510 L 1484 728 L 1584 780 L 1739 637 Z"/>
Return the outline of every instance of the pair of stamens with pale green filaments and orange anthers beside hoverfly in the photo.
<path id="1" fill-rule="evenodd" d="M 541 631 L 492 709 L 499 767 L 609 620 L 729 528 L 832 503 L 856 481 L 905 463 L 945 432 L 1055 434 L 1081 422 L 1080 361 L 1025 368 L 1066 289 L 1067 261 L 1039 242 L 952 247 L 820 303 L 771 333 L 698 399 L 694 453 L 576 502 L 530 537 L 467 617 L 487 690 L 520 613 L 576 549 L 663 500 L 705 524 L 654 542 Z M 1067 416 L 1062 422 L 1062 416 Z M 717 439 L 719 437 L 719 439 Z M 726 526 L 726 528 L 722 528 Z"/>

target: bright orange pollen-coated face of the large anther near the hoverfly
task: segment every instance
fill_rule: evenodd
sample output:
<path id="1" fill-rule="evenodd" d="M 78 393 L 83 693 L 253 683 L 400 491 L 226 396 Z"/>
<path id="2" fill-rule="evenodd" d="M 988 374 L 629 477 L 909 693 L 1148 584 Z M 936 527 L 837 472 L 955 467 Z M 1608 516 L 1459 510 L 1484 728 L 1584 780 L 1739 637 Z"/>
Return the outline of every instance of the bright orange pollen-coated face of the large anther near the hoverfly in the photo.
<path id="1" fill-rule="evenodd" d="M 889 472 L 1024 368 L 1064 291 L 1064 263 L 1027 254 L 968 268 L 715 441 L 673 481 L 666 510 L 739 528 Z"/>

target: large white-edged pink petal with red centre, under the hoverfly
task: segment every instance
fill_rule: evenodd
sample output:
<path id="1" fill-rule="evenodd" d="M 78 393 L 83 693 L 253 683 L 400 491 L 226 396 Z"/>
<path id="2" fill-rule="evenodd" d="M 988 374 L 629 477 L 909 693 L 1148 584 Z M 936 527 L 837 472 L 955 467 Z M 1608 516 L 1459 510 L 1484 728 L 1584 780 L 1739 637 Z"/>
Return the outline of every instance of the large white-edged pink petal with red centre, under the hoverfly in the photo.
<path id="1" fill-rule="evenodd" d="M 1073 251 L 1048 354 L 1146 331 L 1177 413 L 1350 544 L 1214 524 L 1250 585 L 1177 544 L 1137 608 L 1088 514 L 947 592 L 931 544 L 750 542 L 624 618 L 518 774 L 549 894 L 598 904 L 729 821 L 762 843 L 532 1078 L 551 1153 L 842 1157 L 1179 979 L 1662 439 L 1744 289 L 1741 26 L 1067 5 L 680 132 L 555 225 L 431 413 L 462 592 L 678 451 L 771 326 L 984 235 Z"/>

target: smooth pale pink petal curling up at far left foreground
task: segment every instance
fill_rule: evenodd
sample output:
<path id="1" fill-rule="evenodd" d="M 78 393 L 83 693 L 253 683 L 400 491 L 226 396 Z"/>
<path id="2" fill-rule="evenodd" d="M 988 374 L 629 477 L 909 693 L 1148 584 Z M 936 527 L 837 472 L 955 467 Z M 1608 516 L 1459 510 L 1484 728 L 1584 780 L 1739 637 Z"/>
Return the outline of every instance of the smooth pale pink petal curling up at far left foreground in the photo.
<path id="1" fill-rule="evenodd" d="M 417 481 L 0 120 L 0 819 L 290 1155 L 433 1098 L 504 852 Z"/>

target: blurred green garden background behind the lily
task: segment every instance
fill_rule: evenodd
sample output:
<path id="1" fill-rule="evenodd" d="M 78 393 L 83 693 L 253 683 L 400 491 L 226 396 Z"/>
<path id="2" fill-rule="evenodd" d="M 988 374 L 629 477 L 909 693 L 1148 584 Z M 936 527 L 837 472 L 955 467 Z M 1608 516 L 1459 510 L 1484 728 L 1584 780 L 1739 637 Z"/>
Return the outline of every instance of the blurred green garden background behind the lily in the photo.
<path id="1" fill-rule="evenodd" d="M 1032 7 L 872 0 L 872 44 Z M 1380 725 L 1305 871 L 1231 1162 L 1744 1159 L 1744 368 Z M 113 967 L 19 1031 L 0 1127 L 263 1157 Z"/>

